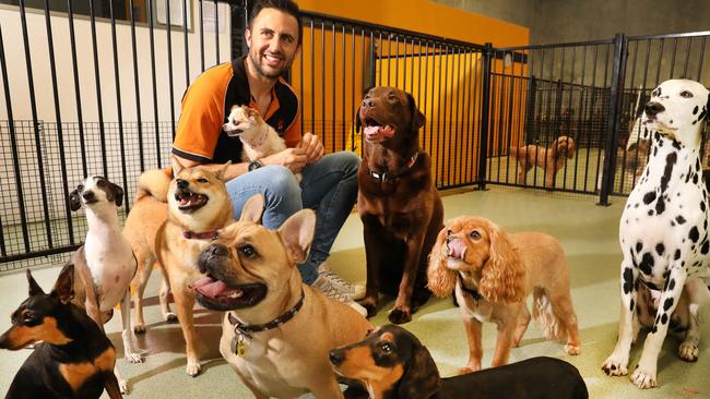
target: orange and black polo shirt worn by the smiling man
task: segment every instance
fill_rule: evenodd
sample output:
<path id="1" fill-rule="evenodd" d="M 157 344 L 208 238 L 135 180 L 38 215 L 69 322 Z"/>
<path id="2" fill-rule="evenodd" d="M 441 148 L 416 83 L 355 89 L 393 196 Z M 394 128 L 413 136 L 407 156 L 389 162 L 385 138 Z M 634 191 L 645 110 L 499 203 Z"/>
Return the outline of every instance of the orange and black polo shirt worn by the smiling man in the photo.
<path id="1" fill-rule="evenodd" d="M 241 141 L 222 131 L 232 107 L 248 105 L 257 108 L 251 97 L 249 80 L 240 57 L 204 71 L 188 87 L 182 97 L 173 154 L 201 164 L 241 161 Z M 300 141 L 298 96 L 284 80 L 279 78 L 271 92 L 271 104 L 264 121 L 279 132 L 286 146 Z"/>

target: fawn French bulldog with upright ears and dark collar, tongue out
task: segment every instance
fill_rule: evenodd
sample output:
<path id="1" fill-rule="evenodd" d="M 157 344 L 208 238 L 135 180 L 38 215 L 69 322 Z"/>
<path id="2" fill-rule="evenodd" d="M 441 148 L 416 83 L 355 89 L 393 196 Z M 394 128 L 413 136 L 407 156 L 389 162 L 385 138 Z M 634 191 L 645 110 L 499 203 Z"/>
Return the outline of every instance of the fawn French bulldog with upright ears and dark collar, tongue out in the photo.
<path id="1" fill-rule="evenodd" d="M 227 312 L 220 352 L 257 398 L 342 398 L 329 350 L 358 341 L 371 325 L 346 304 L 303 283 L 316 215 L 303 209 L 277 231 L 259 223 L 263 197 L 220 231 L 199 259 L 194 285 L 204 307 Z"/>

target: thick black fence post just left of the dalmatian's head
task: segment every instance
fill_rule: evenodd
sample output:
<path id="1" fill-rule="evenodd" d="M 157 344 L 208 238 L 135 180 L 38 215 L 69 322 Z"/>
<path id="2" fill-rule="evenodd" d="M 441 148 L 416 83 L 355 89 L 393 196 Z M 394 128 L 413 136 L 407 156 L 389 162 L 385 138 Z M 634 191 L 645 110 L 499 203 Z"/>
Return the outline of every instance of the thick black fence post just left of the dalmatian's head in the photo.
<path id="1" fill-rule="evenodd" d="M 602 188 L 599 205 L 610 205 L 610 189 L 614 185 L 614 166 L 616 164 L 616 147 L 618 143 L 618 122 L 624 94 L 624 77 L 626 73 L 626 47 L 628 40 L 624 34 L 614 37 L 614 69 L 612 72 L 612 93 L 606 123 L 606 149 L 604 156 L 604 170 L 602 172 Z"/>

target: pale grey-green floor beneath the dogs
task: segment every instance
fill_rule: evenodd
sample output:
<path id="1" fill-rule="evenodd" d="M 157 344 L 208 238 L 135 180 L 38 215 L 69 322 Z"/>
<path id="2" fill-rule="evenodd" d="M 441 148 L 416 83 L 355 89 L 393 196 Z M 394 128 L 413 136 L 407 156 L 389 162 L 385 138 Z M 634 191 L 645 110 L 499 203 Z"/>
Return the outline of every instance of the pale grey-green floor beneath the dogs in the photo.
<path id="1" fill-rule="evenodd" d="M 492 188 L 489 191 L 465 192 L 443 197 L 446 218 L 459 215 L 482 215 L 509 231 L 540 230 L 552 233 L 563 243 L 571 269 L 575 307 L 582 338 L 582 353 L 569 356 L 563 346 L 541 338 L 536 326 L 525 334 L 520 348 L 511 352 L 511 361 L 535 355 L 560 358 L 576 365 L 592 398 L 708 398 L 710 397 L 710 326 L 702 326 L 706 340 L 700 343 L 697 363 L 685 363 L 676 355 L 677 338 L 668 337 L 659 359 L 660 387 L 640 390 L 628 377 L 607 377 L 600 370 L 602 361 L 616 342 L 619 293 L 618 219 L 624 198 L 613 197 L 608 207 L 594 205 L 595 197 L 549 193 L 517 188 Z M 351 215 L 332 251 L 329 264 L 344 278 L 365 280 L 365 251 L 362 223 Z M 57 276 L 57 267 L 38 269 L 35 276 L 49 289 Z M 221 334 L 220 315 L 203 310 L 196 311 L 198 335 L 201 338 L 203 373 L 189 377 L 185 373 L 182 336 L 178 325 L 162 322 L 155 297 L 158 274 L 154 274 L 147 290 L 146 323 L 149 330 L 135 338 L 145 351 L 143 364 L 127 364 L 119 360 L 119 367 L 129 378 L 129 398 L 249 398 L 232 368 L 217 351 Z M 26 297 L 24 274 L 15 273 L 0 277 L 0 330 L 10 325 L 10 313 Z M 372 319 L 376 325 L 387 323 L 386 306 Z M 702 319 L 710 316 L 707 309 Z M 417 335 L 431 352 L 441 375 L 452 375 L 466 361 L 466 341 L 459 310 L 450 299 L 433 299 L 414 319 L 405 325 Z M 111 340 L 120 347 L 119 317 L 108 324 Z M 495 328 L 484 327 L 484 364 L 490 363 L 495 346 Z M 642 336 L 639 338 L 642 340 Z M 631 351 L 631 366 L 640 356 L 640 342 Z M 119 348 L 119 352 L 121 349 Z M 12 377 L 28 350 L 0 352 L 0 395 L 4 395 Z M 474 396 L 472 396 L 474 397 Z"/>

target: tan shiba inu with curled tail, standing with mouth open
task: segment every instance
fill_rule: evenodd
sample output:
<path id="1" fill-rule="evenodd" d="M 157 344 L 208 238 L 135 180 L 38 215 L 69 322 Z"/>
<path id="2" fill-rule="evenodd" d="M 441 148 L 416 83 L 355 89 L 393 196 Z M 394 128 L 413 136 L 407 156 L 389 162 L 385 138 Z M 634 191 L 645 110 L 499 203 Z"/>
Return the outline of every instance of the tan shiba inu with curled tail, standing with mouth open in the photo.
<path id="1" fill-rule="evenodd" d="M 126 221 L 123 234 L 131 242 L 138 258 L 134 304 L 135 330 L 145 331 L 142 298 L 153 264 L 157 261 L 164 274 L 159 301 L 163 315 L 174 321 L 167 303 L 173 292 L 177 318 L 182 327 L 187 352 L 187 373 L 200 373 L 194 348 L 192 307 L 194 294 L 190 286 L 200 277 L 197 259 L 215 238 L 217 229 L 233 220 L 234 213 L 223 174 L 228 164 L 213 173 L 205 168 L 185 168 L 173 158 L 175 179 L 162 170 L 147 171 L 139 178 L 133 209 Z M 167 200 L 167 204 L 163 201 Z M 169 287 L 166 281 L 169 281 Z"/>

